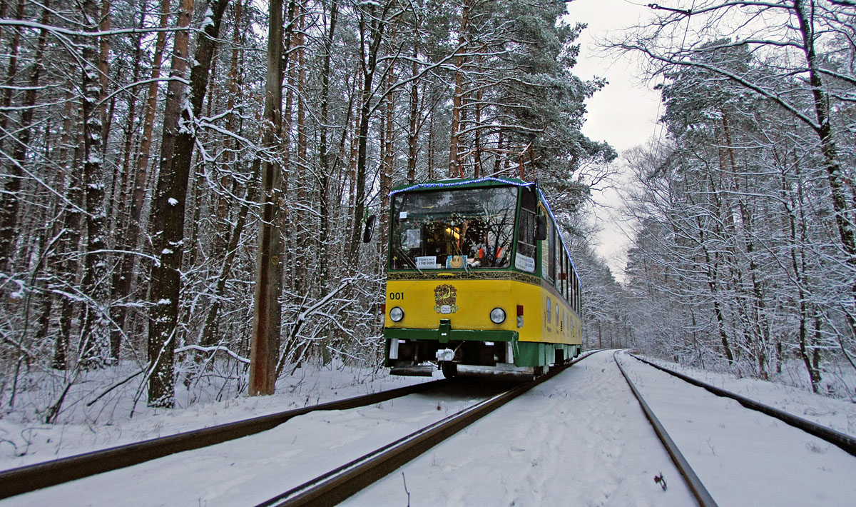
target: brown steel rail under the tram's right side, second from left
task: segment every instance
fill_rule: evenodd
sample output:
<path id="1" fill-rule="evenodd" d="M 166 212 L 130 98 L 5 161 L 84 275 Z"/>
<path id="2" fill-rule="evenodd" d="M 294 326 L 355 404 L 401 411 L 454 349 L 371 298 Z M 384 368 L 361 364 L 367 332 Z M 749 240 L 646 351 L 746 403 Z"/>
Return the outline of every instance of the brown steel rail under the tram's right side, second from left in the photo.
<path id="1" fill-rule="evenodd" d="M 348 464 L 342 465 L 326 474 L 319 475 L 315 479 L 306 481 L 300 486 L 296 486 L 274 498 L 270 498 L 256 507 L 339 504 L 355 492 L 359 492 L 366 486 L 394 472 L 396 468 L 401 467 L 401 465 L 425 453 L 425 451 L 443 442 L 443 440 L 461 431 L 461 429 L 478 421 L 484 415 L 490 414 L 490 412 L 502 407 L 502 405 L 515 397 L 519 397 L 521 394 L 532 389 L 532 387 L 555 377 L 566 368 L 586 359 L 586 357 L 592 354 L 594 353 L 583 355 L 561 367 L 551 369 L 549 373 L 537 379 L 517 385 L 513 389 L 496 397 L 480 402 L 473 407 L 463 409 L 456 414 L 449 415 L 449 417 L 442 421 L 437 421 L 418 432 L 413 432 L 391 444 L 384 445 L 380 449 L 373 450 Z"/>

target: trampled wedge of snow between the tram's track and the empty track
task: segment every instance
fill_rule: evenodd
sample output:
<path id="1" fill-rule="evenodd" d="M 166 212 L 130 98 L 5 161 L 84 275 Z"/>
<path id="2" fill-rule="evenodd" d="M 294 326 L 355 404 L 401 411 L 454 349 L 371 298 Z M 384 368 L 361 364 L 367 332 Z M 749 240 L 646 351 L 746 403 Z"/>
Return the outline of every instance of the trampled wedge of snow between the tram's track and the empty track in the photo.
<path id="1" fill-rule="evenodd" d="M 660 473 L 666 491 L 654 482 Z M 405 480 L 414 507 L 695 504 L 607 352 L 538 385 L 344 504 L 407 505 Z"/>

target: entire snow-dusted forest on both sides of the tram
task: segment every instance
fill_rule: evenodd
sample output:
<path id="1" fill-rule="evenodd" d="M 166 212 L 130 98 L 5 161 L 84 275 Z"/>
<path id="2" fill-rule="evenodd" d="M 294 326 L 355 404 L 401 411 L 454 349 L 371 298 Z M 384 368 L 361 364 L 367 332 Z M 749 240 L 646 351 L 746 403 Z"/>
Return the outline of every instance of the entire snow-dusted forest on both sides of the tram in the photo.
<path id="1" fill-rule="evenodd" d="M 389 190 L 521 170 L 574 255 L 584 347 L 764 379 L 796 361 L 807 389 L 838 389 L 856 369 L 856 6 L 675 2 L 603 41 L 663 97 L 663 134 L 621 157 L 580 133 L 608 85 L 574 75 L 586 26 L 565 12 L 2 0 L 0 413 L 60 421 L 105 372 L 92 397 L 169 409 L 270 393 L 307 361 L 379 369 Z M 620 170 L 621 283 L 589 219 Z"/>

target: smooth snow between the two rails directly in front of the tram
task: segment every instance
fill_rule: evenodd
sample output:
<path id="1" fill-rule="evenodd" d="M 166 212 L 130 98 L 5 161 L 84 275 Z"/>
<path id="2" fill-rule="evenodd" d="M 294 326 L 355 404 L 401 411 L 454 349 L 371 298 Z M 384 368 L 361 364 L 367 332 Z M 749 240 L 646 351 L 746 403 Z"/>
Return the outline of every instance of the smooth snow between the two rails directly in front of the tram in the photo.
<path id="1" fill-rule="evenodd" d="M 3 505 L 255 505 L 481 399 L 414 394 L 3 500 Z"/>

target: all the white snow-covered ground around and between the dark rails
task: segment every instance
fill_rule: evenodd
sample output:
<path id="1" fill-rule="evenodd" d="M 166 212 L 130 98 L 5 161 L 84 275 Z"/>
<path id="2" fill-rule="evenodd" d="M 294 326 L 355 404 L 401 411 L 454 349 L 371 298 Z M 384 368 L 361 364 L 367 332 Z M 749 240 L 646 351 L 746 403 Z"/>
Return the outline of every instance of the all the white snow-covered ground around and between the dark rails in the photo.
<path id="1" fill-rule="evenodd" d="M 657 372 L 628 355 L 621 357 L 634 382 L 649 398 L 651 408 L 720 505 L 854 504 L 853 456 L 780 421 Z M 158 434 L 176 427 L 184 431 L 287 409 L 289 403 L 314 403 L 316 397 L 327 401 L 424 380 L 378 377 L 373 387 L 365 382 L 348 387 L 345 384 L 350 382 L 343 378 L 347 374 L 335 371 L 307 375 L 310 380 L 296 400 L 288 400 L 284 394 L 241 398 L 231 401 L 229 407 L 225 403 L 208 404 L 184 410 L 184 415 L 146 416 L 148 422 L 134 422 L 138 425 L 134 430 L 126 426 L 129 421 L 119 426 L 124 428 L 123 436 L 134 431 L 135 437 L 130 440 L 149 438 L 157 434 L 141 437 L 146 428 Z M 841 421 L 847 426 L 847 421 L 856 420 L 856 404 L 804 396 L 790 388 L 747 379 L 722 378 L 720 383 L 710 377 L 705 380 L 763 403 L 787 403 L 795 414 L 814 415 L 824 424 L 838 421 L 837 429 L 853 434 L 852 429 L 841 427 Z M 310 391 L 312 399 L 306 400 Z M 2 504 L 257 504 L 476 399 L 478 392 L 434 393 L 362 409 L 312 413 L 270 432 L 7 498 Z M 0 426 L 3 431 L 10 431 L 7 426 L 11 423 L 0 423 L 6 425 Z M 104 428 L 92 430 L 94 435 Z M 65 440 L 69 440 L 69 428 L 65 431 Z M 107 432 L 119 433 L 110 428 Z M 44 433 L 39 434 L 44 439 Z M 64 445 L 61 450 L 89 450 L 92 441 L 100 444 L 106 439 L 91 437 L 88 442 L 76 447 Z M 53 452 L 50 444 L 34 443 L 31 449 Z M 10 461 L 14 460 L 4 457 L 3 468 L 18 466 L 9 466 Z M 667 490 L 654 482 L 657 474 L 663 474 Z M 611 352 L 597 353 L 538 385 L 345 504 L 406 505 L 407 492 L 414 506 L 694 504 L 621 378 Z"/>

